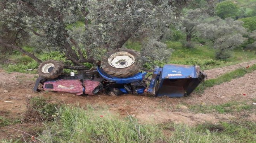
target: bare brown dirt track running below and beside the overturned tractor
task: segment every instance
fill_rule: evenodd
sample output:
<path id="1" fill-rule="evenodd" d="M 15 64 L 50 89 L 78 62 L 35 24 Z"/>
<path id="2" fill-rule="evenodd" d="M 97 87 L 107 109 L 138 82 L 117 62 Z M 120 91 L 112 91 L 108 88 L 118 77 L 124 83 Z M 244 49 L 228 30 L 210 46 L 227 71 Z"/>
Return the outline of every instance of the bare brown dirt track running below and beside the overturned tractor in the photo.
<path id="1" fill-rule="evenodd" d="M 240 63 L 223 68 L 206 70 L 208 78 L 215 78 L 220 74 L 230 72 L 240 67 L 253 65 L 256 61 Z M 37 75 L 24 73 L 6 73 L 0 70 L 0 116 L 9 119 L 22 116 L 26 110 L 26 102 L 35 96 L 51 97 L 52 102 L 65 104 L 79 104 L 86 106 L 107 106 L 110 111 L 127 116 L 135 116 L 140 123 L 185 123 L 195 125 L 198 123 L 227 121 L 230 119 L 246 117 L 249 121 L 256 121 L 254 112 L 220 114 L 211 112 L 209 114 L 191 112 L 191 105 L 218 105 L 227 102 L 246 102 L 253 104 L 256 99 L 256 71 L 244 75 L 230 82 L 210 87 L 202 94 L 192 93 L 189 97 L 168 98 L 149 97 L 147 95 L 121 95 L 111 97 L 105 94 L 94 96 L 78 96 L 69 93 L 33 92 L 33 86 Z M 243 95 L 246 94 L 246 95 Z M 3 102 L 11 101 L 11 102 Z M 28 124 L 13 125 L 16 128 L 26 129 Z M 35 126 L 35 125 L 33 125 Z M 10 129 L 0 127 L 0 139 L 10 138 Z"/>

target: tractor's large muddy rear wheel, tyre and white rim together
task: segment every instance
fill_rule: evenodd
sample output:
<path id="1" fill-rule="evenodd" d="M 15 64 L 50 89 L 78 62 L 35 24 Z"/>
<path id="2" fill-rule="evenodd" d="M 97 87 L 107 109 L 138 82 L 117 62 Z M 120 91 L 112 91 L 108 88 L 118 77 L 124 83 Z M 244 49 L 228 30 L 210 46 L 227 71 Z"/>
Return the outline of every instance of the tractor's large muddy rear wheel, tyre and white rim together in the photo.
<path id="1" fill-rule="evenodd" d="M 113 77 L 130 77 L 140 70 L 138 58 L 140 53 L 132 49 L 117 49 L 103 58 L 101 67 L 107 74 Z"/>

